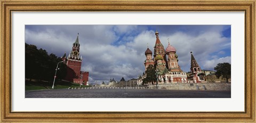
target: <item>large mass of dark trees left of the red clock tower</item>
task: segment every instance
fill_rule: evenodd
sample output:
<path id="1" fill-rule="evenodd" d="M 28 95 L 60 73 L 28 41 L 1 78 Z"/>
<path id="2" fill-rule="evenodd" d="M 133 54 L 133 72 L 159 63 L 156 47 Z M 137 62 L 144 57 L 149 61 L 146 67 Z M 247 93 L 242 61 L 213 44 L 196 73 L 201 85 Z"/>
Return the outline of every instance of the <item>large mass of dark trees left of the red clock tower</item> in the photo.
<path id="1" fill-rule="evenodd" d="M 25 43 L 25 77 L 30 79 L 40 79 L 52 81 L 55 75 L 57 63 L 62 61 L 55 54 L 48 55 L 46 50 L 35 45 Z M 66 64 L 59 63 L 57 79 L 63 79 L 66 76 Z"/>

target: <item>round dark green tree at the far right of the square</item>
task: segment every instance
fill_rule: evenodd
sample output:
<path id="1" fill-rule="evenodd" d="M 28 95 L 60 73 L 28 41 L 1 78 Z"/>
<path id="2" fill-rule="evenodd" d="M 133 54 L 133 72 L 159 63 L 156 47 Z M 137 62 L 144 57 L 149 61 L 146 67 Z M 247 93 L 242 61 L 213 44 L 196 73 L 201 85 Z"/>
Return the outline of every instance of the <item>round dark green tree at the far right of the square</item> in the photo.
<path id="1" fill-rule="evenodd" d="M 222 77 L 221 79 L 226 79 L 228 83 L 228 79 L 231 78 L 231 64 L 230 63 L 218 63 L 214 68 L 216 70 L 215 76 L 217 78 Z"/>

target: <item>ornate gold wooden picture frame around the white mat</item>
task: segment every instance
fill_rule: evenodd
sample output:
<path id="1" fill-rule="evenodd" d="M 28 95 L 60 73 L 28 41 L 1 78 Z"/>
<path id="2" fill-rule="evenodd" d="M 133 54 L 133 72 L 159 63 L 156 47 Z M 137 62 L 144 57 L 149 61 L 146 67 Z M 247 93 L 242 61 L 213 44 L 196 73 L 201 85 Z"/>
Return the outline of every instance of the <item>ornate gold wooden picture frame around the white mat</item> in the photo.
<path id="1" fill-rule="evenodd" d="M 255 122 L 255 0 L 1 0 L 1 122 Z M 12 112 L 11 13 L 13 11 L 243 11 L 245 111 L 243 112 Z"/>

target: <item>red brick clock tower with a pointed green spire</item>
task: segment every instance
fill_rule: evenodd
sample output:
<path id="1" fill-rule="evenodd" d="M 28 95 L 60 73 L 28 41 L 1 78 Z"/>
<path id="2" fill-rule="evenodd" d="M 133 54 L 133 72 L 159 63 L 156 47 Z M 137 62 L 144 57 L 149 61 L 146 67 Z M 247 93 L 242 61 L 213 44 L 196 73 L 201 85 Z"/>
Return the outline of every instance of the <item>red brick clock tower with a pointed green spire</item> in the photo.
<path id="1" fill-rule="evenodd" d="M 71 52 L 68 56 L 66 53 L 62 56 L 62 60 L 66 61 L 67 64 L 67 75 L 66 80 L 73 83 L 87 85 L 89 79 L 89 72 L 81 71 L 82 55 L 80 55 L 80 44 L 78 42 L 78 35 L 75 43 L 73 43 Z"/>

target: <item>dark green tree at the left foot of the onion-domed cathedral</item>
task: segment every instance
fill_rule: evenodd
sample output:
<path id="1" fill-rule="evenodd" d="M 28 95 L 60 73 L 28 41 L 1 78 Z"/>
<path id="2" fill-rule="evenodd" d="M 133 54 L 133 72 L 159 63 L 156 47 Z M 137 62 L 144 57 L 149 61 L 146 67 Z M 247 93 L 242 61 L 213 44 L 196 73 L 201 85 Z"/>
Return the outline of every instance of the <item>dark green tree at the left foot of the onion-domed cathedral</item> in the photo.
<path id="1" fill-rule="evenodd" d="M 147 70 L 145 71 L 146 78 L 143 79 L 142 85 L 152 83 L 154 84 L 154 81 L 156 81 L 156 69 L 154 65 L 149 65 Z"/>

